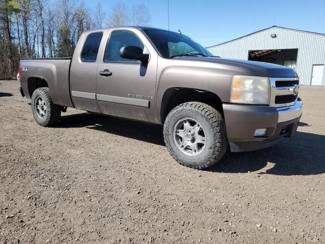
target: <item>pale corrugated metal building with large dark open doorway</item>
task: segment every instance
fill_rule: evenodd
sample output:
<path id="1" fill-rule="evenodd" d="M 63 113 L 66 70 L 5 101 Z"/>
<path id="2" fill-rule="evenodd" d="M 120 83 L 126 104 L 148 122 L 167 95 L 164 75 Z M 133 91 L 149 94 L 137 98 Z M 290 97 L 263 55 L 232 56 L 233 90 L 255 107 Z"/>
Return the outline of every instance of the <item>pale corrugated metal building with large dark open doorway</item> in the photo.
<path id="1" fill-rule="evenodd" d="M 325 85 L 325 34 L 272 26 L 207 49 L 224 58 L 294 68 L 300 84 Z"/>

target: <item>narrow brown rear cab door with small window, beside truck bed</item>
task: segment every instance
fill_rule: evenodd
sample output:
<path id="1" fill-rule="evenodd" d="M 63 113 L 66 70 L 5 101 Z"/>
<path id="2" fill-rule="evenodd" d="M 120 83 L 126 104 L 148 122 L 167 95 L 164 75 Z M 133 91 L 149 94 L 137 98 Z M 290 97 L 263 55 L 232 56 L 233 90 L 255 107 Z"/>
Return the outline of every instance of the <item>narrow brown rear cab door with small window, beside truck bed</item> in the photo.
<path id="1" fill-rule="evenodd" d="M 100 112 L 96 101 L 96 73 L 102 39 L 103 32 L 84 33 L 78 42 L 70 69 L 71 96 L 76 108 Z"/>

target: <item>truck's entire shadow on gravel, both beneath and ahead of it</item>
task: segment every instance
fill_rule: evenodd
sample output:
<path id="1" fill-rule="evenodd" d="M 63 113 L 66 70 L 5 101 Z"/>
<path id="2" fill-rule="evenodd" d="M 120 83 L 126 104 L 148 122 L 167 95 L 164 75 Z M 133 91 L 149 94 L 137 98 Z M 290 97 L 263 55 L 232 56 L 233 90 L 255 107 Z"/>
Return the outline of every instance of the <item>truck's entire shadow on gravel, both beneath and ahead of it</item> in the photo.
<path id="1" fill-rule="evenodd" d="M 165 146 L 163 127 L 103 115 L 80 113 L 62 116 L 58 127 L 99 130 Z M 279 144 L 247 153 L 228 152 L 210 172 L 274 175 L 315 175 L 325 173 L 325 136 L 297 132 Z"/>

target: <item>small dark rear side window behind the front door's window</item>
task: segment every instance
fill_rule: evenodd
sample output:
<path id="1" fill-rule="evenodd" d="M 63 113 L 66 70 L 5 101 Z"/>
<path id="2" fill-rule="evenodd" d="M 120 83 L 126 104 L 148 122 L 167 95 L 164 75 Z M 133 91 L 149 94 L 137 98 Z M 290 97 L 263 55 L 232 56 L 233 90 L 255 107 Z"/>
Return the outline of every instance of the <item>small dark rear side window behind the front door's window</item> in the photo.
<path id="1" fill-rule="evenodd" d="M 81 52 L 82 62 L 96 62 L 98 49 L 102 41 L 103 33 L 96 32 L 87 36 Z"/>

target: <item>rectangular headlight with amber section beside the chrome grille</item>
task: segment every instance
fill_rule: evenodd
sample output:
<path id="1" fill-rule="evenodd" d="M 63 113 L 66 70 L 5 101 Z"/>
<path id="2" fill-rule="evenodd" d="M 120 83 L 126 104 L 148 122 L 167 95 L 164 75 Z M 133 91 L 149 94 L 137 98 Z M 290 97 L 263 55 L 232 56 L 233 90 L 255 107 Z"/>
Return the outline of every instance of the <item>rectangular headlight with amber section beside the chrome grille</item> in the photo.
<path id="1" fill-rule="evenodd" d="M 231 103 L 270 104 L 268 77 L 234 75 L 230 94 Z"/>

